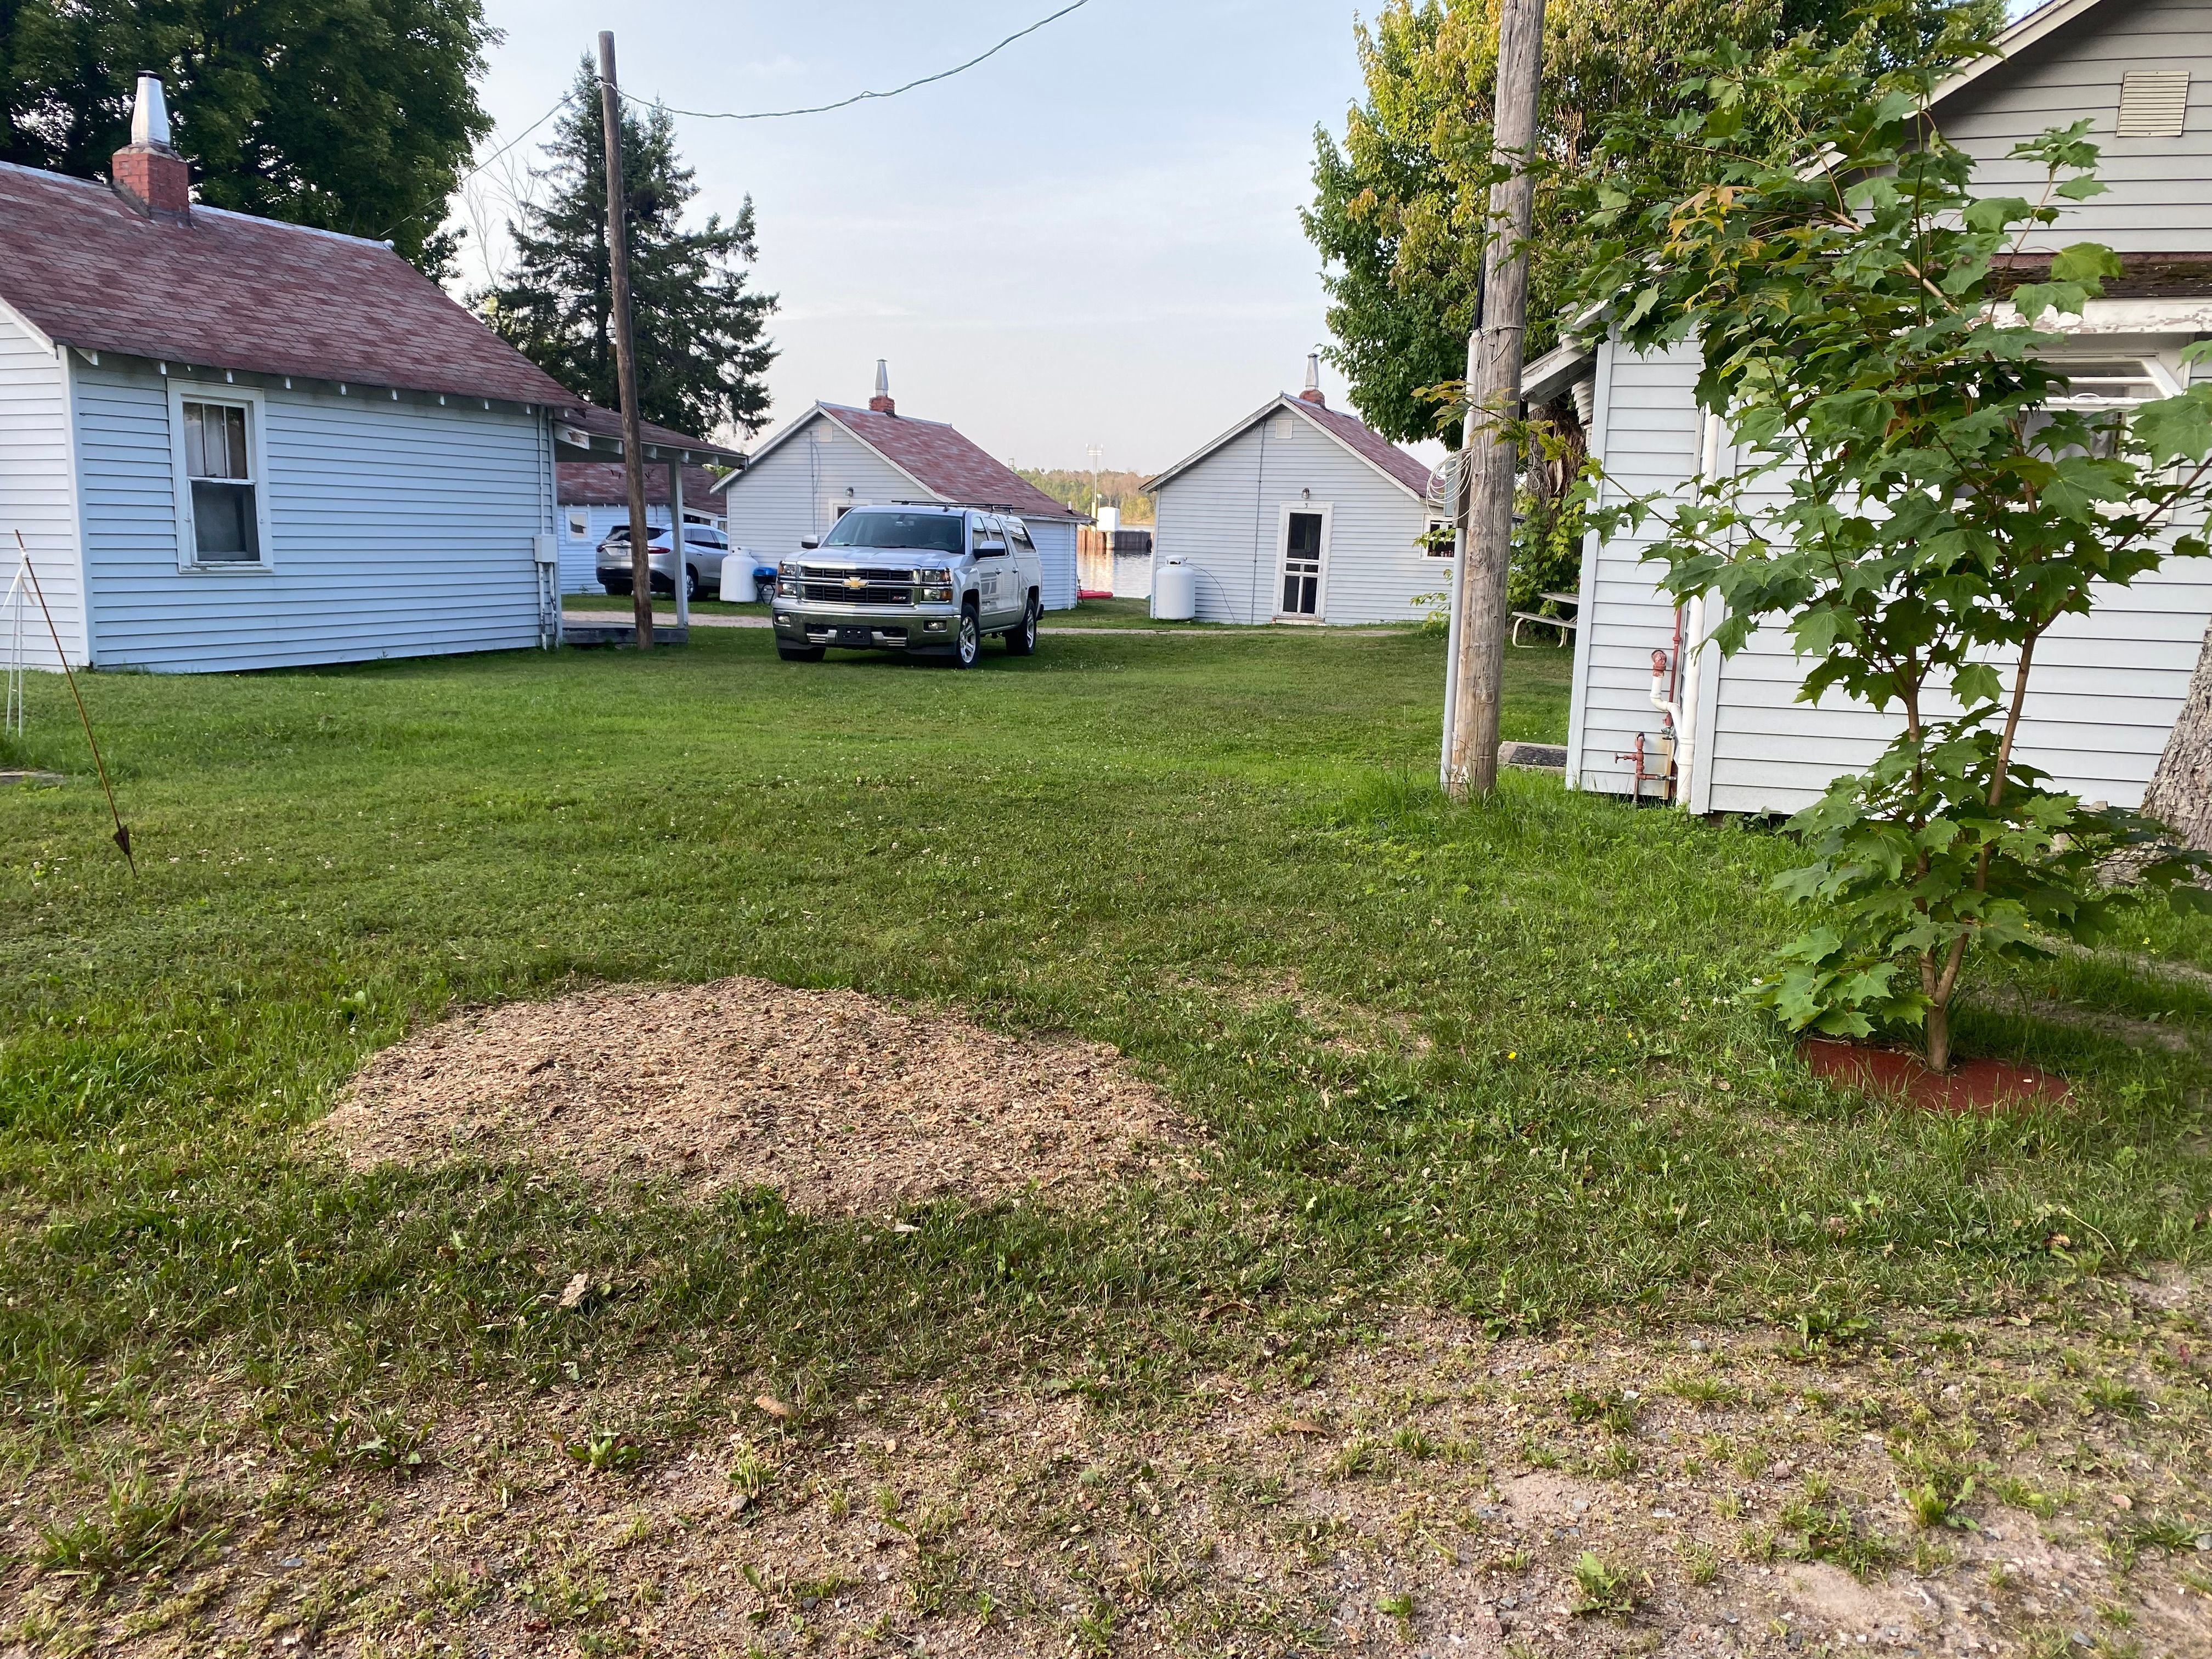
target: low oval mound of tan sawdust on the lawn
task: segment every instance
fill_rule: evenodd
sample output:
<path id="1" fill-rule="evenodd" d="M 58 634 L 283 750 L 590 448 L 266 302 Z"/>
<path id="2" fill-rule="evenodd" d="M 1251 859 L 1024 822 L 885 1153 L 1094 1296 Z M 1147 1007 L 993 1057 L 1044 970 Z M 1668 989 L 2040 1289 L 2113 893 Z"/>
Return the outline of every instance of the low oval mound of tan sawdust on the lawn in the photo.
<path id="1" fill-rule="evenodd" d="M 1186 1139 L 1113 1048 L 768 980 L 445 1020 L 376 1055 L 319 1133 L 354 1168 L 520 1152 L 690 1194 L 772 1186 L 814 1214 L 1071 1199 Z"/>

